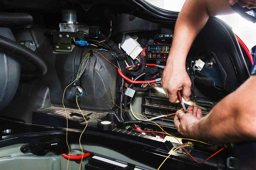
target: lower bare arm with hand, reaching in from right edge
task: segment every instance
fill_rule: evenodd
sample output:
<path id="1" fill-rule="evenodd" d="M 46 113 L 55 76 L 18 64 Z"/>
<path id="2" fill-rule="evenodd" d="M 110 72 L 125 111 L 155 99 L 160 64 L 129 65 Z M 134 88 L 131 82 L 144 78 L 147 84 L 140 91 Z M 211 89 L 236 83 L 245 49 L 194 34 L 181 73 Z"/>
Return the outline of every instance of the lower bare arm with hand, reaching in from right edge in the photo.
<path id="1" fill-rule="evenodd" d="M 178 111 L 174 123 L 182 135 L 201 141 L 253 141 L 256 140 L 255 106 L 256 75 L 221 100 L 207 116 L 200 119 Z"/>

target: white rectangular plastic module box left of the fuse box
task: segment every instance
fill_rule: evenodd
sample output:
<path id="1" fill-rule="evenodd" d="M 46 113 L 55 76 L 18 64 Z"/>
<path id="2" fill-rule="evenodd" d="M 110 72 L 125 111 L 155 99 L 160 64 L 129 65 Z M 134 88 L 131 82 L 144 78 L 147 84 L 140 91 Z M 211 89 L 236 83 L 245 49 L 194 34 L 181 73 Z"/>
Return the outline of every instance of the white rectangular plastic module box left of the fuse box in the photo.
<path id="1" fill-rule="evenodd" d="M 126 35 L 124 42 L 121 43 L 123 50 L 134 60 L 143 50 L 140 44 L 130 35 Z"/>

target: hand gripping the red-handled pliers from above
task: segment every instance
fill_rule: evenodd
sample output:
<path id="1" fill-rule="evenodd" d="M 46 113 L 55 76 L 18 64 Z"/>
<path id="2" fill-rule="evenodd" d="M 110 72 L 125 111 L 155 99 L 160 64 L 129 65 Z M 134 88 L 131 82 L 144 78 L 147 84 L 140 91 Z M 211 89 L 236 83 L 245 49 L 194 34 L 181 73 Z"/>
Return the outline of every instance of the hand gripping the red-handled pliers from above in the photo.
<path id="1" fill-rule="evenodd" d="M 172 61 L 170 61 L 163 72 L 161 84 L 166 92 L 166 97 L 169 98 L 171 103 L 178 102 L 177 92 L 181 89 L 183 89 L 184 100 L 189 101 L 191 80 L 186 72 L 185 66 L 180 67 L 178 63 L 173 64 Z"/>

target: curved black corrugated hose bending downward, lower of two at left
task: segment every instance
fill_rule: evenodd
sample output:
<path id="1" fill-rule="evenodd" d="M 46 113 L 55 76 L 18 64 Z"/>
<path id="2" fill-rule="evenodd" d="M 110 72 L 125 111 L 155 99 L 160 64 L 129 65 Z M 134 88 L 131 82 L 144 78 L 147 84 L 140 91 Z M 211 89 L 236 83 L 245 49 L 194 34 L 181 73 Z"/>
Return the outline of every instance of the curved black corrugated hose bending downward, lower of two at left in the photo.
<path id="1" fill-rule="evenodd" d="M 42 75 L 47 73 L 47 65 L 45 61 L 30 48 L 2 35 L 0 35 L 0 48 L 24 57 L 36 66 Z M 34 75 L 37 74 L 38 73 L 32 73 L 28 74 L 29 76 L 23 75 L 22 77 L 34 77 Z"/>

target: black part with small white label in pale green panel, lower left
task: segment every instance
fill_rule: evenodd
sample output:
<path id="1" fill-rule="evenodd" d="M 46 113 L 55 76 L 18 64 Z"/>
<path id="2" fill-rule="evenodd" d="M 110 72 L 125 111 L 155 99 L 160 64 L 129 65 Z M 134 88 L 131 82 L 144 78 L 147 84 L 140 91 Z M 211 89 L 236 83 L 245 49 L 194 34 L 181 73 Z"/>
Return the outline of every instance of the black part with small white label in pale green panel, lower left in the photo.
<path id="1" fill-rule="evenodd" d="M 31 152 L 35 155 L 42 156 L 46 154 L 46 150 L 51 150 L 57 155 L 66 153 L 68 151 L 66 141 L 50 141 L 25 144 L 21 146 L 20 150 L 23 153 Z"/>

